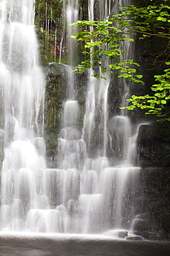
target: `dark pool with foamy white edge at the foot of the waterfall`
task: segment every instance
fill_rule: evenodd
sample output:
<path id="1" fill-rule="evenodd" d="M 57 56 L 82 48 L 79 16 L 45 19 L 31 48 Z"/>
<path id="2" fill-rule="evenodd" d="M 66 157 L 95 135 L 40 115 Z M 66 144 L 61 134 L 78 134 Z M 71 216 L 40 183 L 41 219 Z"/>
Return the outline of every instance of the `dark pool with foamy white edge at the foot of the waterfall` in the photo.
<path id="1" fill-rule="evenodd" d="M 126 241 L 98 235 L 0 235 L 0 255 L 169 256 L 169 241 Z"/>

